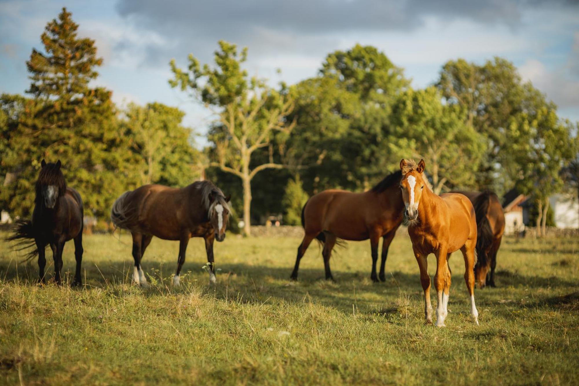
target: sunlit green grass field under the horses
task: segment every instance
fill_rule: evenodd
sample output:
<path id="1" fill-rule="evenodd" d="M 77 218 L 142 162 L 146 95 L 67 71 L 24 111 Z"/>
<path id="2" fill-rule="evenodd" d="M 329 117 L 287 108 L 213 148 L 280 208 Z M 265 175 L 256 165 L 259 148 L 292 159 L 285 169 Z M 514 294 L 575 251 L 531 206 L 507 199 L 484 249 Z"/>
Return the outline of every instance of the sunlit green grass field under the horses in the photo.
<path id="1" fill-rule="evenodd" d="M 152 287 L 141 289 L 129 236 L 86 236 L 85 287 L 71 289 L 36 286 L 36 262 L 17 265 L 1 241 L 0 384 L 579 384 L 579 239 L 505 239 L 499 287 L 475 292 L 480 326 L 454 254 L 437 329 L 423 321 L 405 232 L 380 284 L 369 279 L 368 242 L 332 257 L 336 283 L 322 279 L 312 244 L 290 282 L 299 239 L 229 235 L 215 244 L 212 287 L 193 239 L 178 289 L 177 242 L 153 239 L 143 260 Z M 68 243 L 65 277 L 74 264 Z"/>

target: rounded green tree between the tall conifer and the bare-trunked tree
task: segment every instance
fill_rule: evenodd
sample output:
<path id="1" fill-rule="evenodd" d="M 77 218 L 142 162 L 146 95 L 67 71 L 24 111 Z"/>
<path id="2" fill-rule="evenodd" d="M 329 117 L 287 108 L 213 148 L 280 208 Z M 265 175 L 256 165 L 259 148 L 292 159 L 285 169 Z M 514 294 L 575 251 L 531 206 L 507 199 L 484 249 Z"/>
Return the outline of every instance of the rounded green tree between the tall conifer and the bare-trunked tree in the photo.
<path id="1" fill-rule="evenodd" d="M 199 152 L 192 147 L 192 131 L 182 126 L 185 113 L 162 103 L 144 107 L 129 104 L 122 122 L 124 135 L 140 159 L 141 184 L 184 186 L 199 176 Z"/>

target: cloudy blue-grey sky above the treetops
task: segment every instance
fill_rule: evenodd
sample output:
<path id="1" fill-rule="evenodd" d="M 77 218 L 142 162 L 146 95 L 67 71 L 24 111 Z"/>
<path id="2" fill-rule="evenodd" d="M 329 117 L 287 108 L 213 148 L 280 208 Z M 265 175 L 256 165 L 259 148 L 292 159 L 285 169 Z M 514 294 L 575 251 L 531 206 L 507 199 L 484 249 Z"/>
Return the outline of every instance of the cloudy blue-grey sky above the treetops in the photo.
<path id="1" fill-rule="evenodd" d="M 170 88 L 168 62 L 185 67 L 189 53 L 210 62 L 219 39 L 248 47 L 251 75 L 290 84 L 356 43 L 382 50 L 415 88 L 434 83 L 448 60 L 501 56 L 562 118 L 579 121 L 579 0 L 0 0 L 0 92 L 28 88 L 25 61 L 63 6 L 96 41 L 96 84 L 116 103 L 179 107 L 201 134 L 210 114 Z"/>

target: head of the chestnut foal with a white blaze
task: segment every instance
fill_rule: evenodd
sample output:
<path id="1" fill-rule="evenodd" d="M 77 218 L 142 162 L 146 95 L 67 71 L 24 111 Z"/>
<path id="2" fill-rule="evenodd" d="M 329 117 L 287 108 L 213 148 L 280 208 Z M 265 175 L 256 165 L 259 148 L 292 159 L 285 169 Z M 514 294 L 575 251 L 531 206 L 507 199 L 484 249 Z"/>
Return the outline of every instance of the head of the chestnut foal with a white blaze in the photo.
<path id="1" fill-rule="evenodd" d="M 421 159 L 418 165 L 412 160 L 402 159 L 400 161 L 400 170 L 402 170 L 400 188 L 404 206 L 406 207 L 404 214 L 412 225 L 418 219 L 418 205 L 424 185 L 427 185 L 426 178 L 422 174 L 424 172 L 424 159 Z"/>

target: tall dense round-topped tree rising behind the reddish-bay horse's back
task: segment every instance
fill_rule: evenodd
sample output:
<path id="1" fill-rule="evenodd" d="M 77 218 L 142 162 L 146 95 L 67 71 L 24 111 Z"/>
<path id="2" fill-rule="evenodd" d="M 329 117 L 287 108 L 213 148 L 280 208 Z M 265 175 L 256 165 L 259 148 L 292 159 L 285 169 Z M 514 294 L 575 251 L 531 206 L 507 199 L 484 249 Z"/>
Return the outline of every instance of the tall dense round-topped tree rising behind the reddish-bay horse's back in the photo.
<path id="1" fill-rule="evenodd" d="M 384 53 L 356 45 L 328 54 L 317 77 L 295 86 L 298 123 L 287 152 L 307 191 L 367 189 L 394 171 L 391 107 L 408 85 Z"/>

